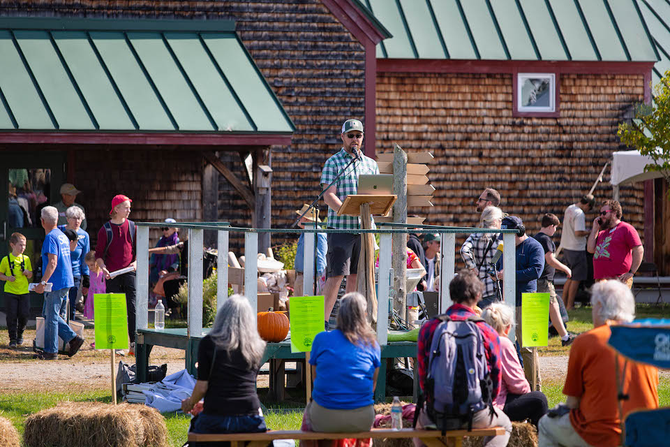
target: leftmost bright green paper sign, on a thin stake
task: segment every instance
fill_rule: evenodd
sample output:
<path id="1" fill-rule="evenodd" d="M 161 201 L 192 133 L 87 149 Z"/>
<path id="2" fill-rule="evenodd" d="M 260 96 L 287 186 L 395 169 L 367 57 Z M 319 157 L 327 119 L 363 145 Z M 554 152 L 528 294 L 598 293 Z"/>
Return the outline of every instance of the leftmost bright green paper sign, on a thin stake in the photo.
<path id="1" fill-rule="evenodd" d="M 93 295 L 96 349 L 128 349 L 128 313 L 125 293 Z"/>

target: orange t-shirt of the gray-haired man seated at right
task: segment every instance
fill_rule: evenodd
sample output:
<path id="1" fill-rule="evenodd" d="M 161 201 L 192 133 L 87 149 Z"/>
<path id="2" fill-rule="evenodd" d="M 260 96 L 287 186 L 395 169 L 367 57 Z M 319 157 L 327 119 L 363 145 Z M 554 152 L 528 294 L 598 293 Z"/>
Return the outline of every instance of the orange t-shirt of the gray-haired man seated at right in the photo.
<path id="1" fill-rule="evenodd" d="M 589 330 L 574 340 L 567 365 L 563 394 L 579 397 L 579 408 L 570 411 L 570 422 L 592 446 L 619 446 L 621 429 L 617 403 L 616 351 L 607 344 L 609 325 Z M 620 374 L 625 358 L 619 356 Z M 658 408 L 658 370 L 628 360 L 623 392 L 624 417 L 635 409 Z"/>

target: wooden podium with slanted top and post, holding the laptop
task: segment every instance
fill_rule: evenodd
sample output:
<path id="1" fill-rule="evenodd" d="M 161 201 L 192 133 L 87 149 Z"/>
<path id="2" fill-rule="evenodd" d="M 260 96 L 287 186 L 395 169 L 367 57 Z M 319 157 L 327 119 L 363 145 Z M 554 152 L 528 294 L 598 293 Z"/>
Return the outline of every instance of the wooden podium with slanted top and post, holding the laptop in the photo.
<path id="1" fill-rule="evenodd" d="M 373 215 L 387 215 L 398 196 L 394 194 L 355 194 L 347 196 L 337 211 L 338 216 L 359 216 L 362 228 L 371 230 Z M 358 258 L 357 290 L 368 302 L 368 321 L 376 327 L 377 291 L 375 290 L 375 240 L 372 233 L 361 233 L 361 254 Z"/>

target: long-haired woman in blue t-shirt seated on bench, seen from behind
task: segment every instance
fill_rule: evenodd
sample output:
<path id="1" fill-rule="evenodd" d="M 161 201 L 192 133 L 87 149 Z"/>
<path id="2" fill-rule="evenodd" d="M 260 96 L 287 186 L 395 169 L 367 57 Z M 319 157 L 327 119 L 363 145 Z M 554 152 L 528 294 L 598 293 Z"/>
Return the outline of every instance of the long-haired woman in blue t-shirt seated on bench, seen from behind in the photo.
<path id="1" fill-rule="evenodd" d="M 375 420 L 373 393 L 381 351 L 358 292 L 342 297 L 337 329 L 320 332 L 309 363 L 314 378 L 306 412 L 315 432 L 363 432 Z"/>

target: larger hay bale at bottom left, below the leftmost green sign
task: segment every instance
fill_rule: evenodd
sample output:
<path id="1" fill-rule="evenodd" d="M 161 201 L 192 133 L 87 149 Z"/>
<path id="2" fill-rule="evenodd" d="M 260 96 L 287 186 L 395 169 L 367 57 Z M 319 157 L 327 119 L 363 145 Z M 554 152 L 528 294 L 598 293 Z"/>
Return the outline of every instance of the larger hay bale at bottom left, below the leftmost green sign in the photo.
<path id="1" fill-rule="evenodd" d="M 64 402 L 26 419 L 25 447 L 165 447 L 163 416 L 144 405 Z"/>

